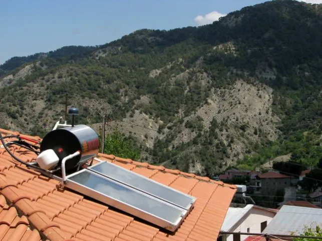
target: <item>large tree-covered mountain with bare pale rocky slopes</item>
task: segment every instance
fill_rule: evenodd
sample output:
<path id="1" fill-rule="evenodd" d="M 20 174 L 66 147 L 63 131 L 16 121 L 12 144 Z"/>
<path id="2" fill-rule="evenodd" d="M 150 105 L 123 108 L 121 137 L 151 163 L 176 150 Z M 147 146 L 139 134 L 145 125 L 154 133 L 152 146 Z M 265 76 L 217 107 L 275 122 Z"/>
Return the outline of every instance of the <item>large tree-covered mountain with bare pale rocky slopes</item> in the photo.
<path id="1" fill-rule="evenodd" d="M 316 165 L 321 27 L 322 5 L 274 0 L 209 25 L 18 61 L 0 79 L 0 127 L 44 135 L 68 93 L 78 123 L 99 131 L 108 115 L 108 132 L 130 135 L 144 161 L 208 176 L 278 156 Z"/>

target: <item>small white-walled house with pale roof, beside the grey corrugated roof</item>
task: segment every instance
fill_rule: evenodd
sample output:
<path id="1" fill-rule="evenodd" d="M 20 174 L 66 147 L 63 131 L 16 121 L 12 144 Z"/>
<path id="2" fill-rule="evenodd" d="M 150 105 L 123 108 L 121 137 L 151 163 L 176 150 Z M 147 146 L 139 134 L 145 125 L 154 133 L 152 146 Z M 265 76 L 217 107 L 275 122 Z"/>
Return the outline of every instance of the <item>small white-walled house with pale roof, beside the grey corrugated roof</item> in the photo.
<path id="1" fill-rule="evenodd" d="M 273 219 L 276 209 L 265 208 L 248 204 L 243 208 L 229 207 L 221 231 L 226 232 L 262 232 L 267 224 Z M 225 234 L 217 240 L 220 241 L 242 241 L 249 235 Z"/>

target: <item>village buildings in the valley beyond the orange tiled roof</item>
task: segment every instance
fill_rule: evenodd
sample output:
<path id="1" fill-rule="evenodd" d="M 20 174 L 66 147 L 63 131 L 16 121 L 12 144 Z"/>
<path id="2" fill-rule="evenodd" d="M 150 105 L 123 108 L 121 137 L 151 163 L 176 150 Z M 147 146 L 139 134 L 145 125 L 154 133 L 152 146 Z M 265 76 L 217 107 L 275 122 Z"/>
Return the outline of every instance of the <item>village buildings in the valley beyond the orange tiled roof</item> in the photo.
<path id="1" fill-rule="evenodd" d="M 260 172 L 229 168 L 216 176 L 217 180 L 237 185 L 221 231 L 289 235 L 304 226 L 320 225 L 321 188 L 307 192 L 298 184 L 309 172 L 307 169 L 299 175 L 286 175 L 276 170 Z M 223 234 L 217 238 L 217 241 L 240 240 L 261 241 L 265 238 L 242 234 Z"/>

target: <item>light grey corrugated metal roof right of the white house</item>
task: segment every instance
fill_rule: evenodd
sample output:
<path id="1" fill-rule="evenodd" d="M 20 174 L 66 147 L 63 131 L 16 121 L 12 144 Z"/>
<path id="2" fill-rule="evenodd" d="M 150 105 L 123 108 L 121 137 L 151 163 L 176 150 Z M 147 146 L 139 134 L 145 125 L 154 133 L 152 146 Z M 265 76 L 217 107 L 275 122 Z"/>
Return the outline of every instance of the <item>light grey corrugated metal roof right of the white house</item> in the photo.
<path id="1" fill-rule="evenodd" d="M 322 225 L 322 209 L 283 205 L 262 233 L 302 233 L 305 226 Z"/>

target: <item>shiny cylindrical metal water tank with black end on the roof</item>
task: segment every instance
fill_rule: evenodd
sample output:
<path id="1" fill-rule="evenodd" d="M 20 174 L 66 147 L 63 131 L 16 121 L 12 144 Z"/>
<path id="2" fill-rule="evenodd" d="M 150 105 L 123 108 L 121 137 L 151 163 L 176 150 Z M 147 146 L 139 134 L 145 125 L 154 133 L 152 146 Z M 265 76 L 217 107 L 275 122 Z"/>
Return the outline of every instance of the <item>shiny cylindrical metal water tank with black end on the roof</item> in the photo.
<path id="1" fill-rule="evenodd" d="M 59 157 L 58 165 L 62 159 L 80 150 L 81 155 L 66 161 L 66 171 L 74 169 L 79 163 L 84 163 L 99 152 L 99 137 L 91 127 L 78 124 L 73 127 L 64 127 L 50 131 L 45 135 L 40 145 L 40 151 L 53 149 Z"/>

